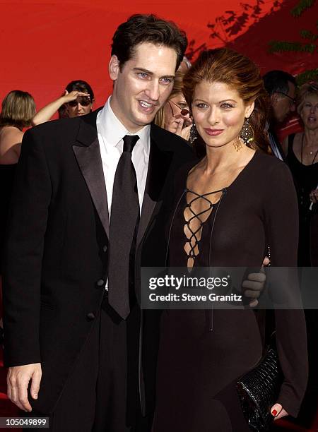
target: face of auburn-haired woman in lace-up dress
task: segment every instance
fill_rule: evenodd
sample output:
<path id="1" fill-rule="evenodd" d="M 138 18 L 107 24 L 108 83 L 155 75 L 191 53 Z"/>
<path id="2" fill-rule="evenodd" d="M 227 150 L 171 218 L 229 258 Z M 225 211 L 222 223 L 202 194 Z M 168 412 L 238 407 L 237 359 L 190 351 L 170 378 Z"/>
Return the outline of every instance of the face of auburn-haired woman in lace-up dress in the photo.
<path id="1" fill-rule="evenodd" d="M 245 105 L 237 91 L 225 83 L 204 80 L 194 90 L 194 123 L 208 147 L 234 143 L 253 109 L 254 102 Z"/>

